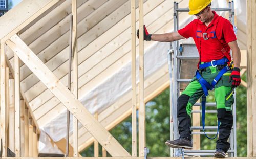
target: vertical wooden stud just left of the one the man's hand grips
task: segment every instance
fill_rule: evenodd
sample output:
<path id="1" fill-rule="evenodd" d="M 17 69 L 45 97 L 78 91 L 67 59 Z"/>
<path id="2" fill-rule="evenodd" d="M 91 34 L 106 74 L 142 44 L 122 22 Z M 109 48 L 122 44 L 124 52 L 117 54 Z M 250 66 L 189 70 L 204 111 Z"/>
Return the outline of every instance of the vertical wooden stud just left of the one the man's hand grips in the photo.
<path id="1" fill-rule="evenodd" d="M 136 109 L 136 4 L 131 0 L 132 29 L 132 156 L 137 157 L 137 109 Z"/>

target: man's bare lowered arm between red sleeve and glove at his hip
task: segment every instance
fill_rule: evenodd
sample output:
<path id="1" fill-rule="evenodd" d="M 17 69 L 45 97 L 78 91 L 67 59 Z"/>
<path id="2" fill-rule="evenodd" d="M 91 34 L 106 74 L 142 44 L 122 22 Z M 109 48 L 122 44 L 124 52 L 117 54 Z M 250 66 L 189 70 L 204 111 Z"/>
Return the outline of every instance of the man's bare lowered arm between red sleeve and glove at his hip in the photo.
<path id="1" fill-rule="evenodd" d="M 238 47 L 237 40 L 234 40 L 232 42 L 228 42 L 228 45 L 232 50 L 234 67 L 237 67 L 237 68 L 240 69 L 241 52 L 240 52 L 240 49 Z"/>

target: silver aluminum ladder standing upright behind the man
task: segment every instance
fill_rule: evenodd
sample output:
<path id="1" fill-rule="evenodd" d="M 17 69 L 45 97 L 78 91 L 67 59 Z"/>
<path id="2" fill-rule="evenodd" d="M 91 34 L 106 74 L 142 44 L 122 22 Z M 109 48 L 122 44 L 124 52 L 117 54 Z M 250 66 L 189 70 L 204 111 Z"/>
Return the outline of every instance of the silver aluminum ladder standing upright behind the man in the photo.
<path id="1" fill-rule="evenodd" d="M 229 21 L 234 26 L 234 2 L 229 2 L 228 8 L 211 8 L 214 11 L 228 11 L 229 12 Z M 174 2 L 174 32 L 179 30 L 179 12 L 189 12 L 188 8 L 179 8 L 179 4 Z M 234 26 L 236 29 L 236 26 Z M 236 33 L 236 31 L 235 31 Z M 171 43 L 171 47 L 168 51 L 168 65 L 169 65 L 169 76 L 170 76 L 170 140 L 178 139 L 178 119 L 177 119 L 177 98 L 180 95 L 181 87 L 184 87 L 184 83 L 189 83 L 191 77 L 194 76 L 196 69 L 194 70 L 193 76 L 190 79 L 182 78 L 182 63 L 186 61 L 197 61 L 199 59 L 198 50 L 196 49 L 195 44 L 193 43 L 184 43 L 179 46 L 179 41 Z M 192 54 L 191 54 L 192 53 Z M 197 64 L 196 62 L 196 64 Z M 185 70 L 184 72 L 186 72 Z M 231 157 L 237 157 L 237 134 L 236 134 L 236 92 L 234 91 L 234 104 L 232 106 L 233 113 L 233 127 L 229 137 L 230 149 L 227 153 Z M 201 103 L 196 103 L 194 106 L 201 106 Z M 206 109 L 209 106 L 216 106 L 216 103 L 206 103 Z M 191 113 L 201 113 L 200 111 L 192 111 Z M 217 110 L 206 110 L 206 119 L 207 113 L 216 113 Z M 217 122 L 216 122 L 217 123 Z M 202 126 L 193 127 L 191 130 L 203 130 Z M 206 134 L 217 134 L 217 126 L 205 126 L 205 130 L 216 130 L 216 132 L 206 132 Z M 204 135 L 204 132 L 192 132 L 192 134 Z M 184 155 L 188 156 L 213 156 L 216 150 L 184 150 L 184 149 L 170 149 L 171 157 L 179 157 Z"/>

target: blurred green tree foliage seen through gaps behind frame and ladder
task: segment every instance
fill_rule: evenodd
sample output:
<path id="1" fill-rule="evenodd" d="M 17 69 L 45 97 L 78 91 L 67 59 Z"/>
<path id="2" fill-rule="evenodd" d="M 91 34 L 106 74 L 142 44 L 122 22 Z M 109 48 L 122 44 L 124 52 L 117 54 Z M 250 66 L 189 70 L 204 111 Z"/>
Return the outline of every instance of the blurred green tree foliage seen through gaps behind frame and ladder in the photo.
<path id="1" fill-rule="evenodd" d="M 246 81 L 246 75 L 242 76 L 242 79 Z M 237 155 L 239 157 L 245 157 L 247 156 L 246 88 L 244 88 L 243 86 L 239 86 L 236 89 L 236 93 Z M 207 96 L 207 102 L 215 102 L 214 92 L 209 92 L 209 96 Z M 206 109 L 216 110 L 216 107 L 207 107 Z M 132 118 L 129 117 L 110 131 L 110 133 L 115 137 L 115 139 L 117 139 L 117 141 L 130 154 L 132 154 L 131 122 Z M 207 113 L 205 118 L 205 125 L 217 125 L 216 113 Z M 209 136 L 211 137 L 212 135 Z M 169 138 L 169 89 L 166 89 L 163 93 L 154 98 L 152 101 L 146 103 L 146 147 L 150 148 L 150 153 L 148 154 L 148 156 L 170 156 L 169 148 L 164 144 L 165 141 L 168 140 Z M 216 139 L 209 140 L 204 135 L 201 135 L 201 149 L 215 149 L 215 146 Z M 82 152 L 82 156 L 94 156 L 93 149 L 93 145 L 90 146 L 88 149 Z M 101 147 L 99 148 L 99 150 L 101 150 Z M 108 154 L 108 156 L 110 155 Z"/>

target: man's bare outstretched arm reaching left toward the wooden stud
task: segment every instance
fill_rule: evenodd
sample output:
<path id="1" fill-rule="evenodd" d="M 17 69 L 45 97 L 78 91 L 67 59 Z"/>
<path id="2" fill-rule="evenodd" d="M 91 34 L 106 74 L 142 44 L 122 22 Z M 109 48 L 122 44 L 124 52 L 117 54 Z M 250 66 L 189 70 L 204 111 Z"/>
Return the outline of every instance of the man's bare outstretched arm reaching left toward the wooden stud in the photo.
<path id="1" fill-rule="evenodd" d="M 160 42 L 172 42 L 176 40 L 184 39 L 178 32 L 165 33 L 165 34 L 152 34 L 151 40 Z"/>

